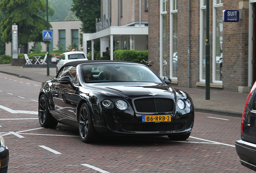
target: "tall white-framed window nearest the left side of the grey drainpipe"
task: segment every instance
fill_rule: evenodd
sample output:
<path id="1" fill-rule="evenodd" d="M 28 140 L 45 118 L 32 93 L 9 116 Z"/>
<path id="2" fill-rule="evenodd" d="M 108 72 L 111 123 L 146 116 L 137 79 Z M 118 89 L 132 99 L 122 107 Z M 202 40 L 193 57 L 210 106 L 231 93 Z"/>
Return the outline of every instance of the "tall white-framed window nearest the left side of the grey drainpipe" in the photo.
<path id="1" fill-rule="evenodd" d="M 170 77 L 171 79 L 177 80 L 177 69 L 178 69 L 178 51 L 177 51 L 177 0 L 171 0 L 170 6 Z"/>

